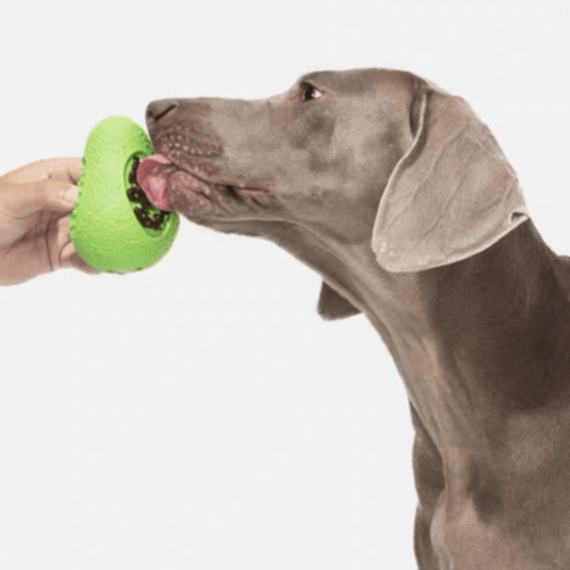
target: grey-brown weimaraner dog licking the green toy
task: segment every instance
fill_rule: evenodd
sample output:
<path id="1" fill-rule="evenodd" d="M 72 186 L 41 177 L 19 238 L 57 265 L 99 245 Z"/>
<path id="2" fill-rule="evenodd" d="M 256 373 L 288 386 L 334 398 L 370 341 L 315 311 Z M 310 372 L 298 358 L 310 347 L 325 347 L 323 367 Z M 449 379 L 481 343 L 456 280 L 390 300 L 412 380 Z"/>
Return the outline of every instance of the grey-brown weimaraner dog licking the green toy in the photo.
<path id="1" fill-rule="evenodd" d="M 570 569 L 570 258 L 466 101 L 365 69 L 146 117 L 150 201 L 274 241 L 322 276 L 322 317 L 362 312 L 384 340 L 416 434 L 418 567 Z"/>

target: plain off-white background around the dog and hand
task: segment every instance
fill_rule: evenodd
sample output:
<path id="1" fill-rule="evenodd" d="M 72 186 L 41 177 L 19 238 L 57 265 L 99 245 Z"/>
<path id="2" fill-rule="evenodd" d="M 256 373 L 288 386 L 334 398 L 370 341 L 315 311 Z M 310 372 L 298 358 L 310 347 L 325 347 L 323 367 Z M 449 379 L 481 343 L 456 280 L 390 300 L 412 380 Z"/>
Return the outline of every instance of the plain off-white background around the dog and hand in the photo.
<path id="1" fill-rule="evenodd" d="M 557 253 L 567 222 L 561 0 L 10 2 L 0 173 L 81 156 L 108 115 L 392 67 L 469 101 Z M 259 239 L 182 218 L 156 266 L 0 288 L 0 567 L 413 569 L 412 429 L 363 316 Z"/>

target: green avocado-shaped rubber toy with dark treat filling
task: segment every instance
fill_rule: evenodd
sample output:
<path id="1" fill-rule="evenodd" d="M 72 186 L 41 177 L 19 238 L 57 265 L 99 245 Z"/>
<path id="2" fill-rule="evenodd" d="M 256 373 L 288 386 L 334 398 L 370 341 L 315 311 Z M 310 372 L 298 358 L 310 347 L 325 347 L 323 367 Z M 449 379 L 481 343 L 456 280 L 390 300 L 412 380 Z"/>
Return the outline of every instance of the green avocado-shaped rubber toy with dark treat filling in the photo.
<path id="1" fill-rule="evenodd" d="M 137 271 L 168 251 L 178 214 L 153 206 L 137 182 L 137 168 L 153 153 L 128 117 L 101 120 L 87 136 L 69 233 L 79 257 L 99 271 Z"/>

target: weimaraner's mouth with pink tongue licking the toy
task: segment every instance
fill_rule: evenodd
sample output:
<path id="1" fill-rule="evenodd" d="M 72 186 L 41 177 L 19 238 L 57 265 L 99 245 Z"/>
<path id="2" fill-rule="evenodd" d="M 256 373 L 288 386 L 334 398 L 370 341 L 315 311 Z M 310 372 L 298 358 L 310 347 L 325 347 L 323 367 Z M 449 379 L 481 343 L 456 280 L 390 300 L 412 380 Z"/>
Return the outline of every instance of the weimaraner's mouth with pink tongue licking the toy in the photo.
<path id="1" fill-rule="evenodd" d="M 162 211 L 178 209 L 176 205 L 182 194 L 186 202 L 194 196 L 221 209 L 227 209 L 229 202 L 242 203 L 250 209 L 266 205 L 267 190 L 242 184 L 213 182 L 202 177 L 196 170 L 190 170 L 186 165 L 180 166 L 166 154 L 152 154 L 140 161 L 136 179 L 149 202 Z"/>

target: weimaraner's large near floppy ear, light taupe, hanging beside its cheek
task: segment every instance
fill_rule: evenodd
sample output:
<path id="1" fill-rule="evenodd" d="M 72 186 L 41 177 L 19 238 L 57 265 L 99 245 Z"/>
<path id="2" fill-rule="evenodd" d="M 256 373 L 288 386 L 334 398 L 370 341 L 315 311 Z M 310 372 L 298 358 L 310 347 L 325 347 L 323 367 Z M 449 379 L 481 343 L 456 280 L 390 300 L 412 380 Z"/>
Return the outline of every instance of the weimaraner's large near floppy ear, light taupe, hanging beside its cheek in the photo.
<path id="1" fill-rule="evenodd" d="M 466 101 L 429 83 L 417 97 L 416 136 L 390 176 L 372 234 L 388 271 L 471 257 L 528 219 L 514 170 Z"/>

